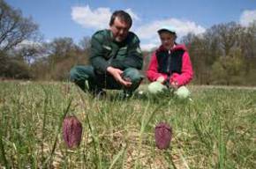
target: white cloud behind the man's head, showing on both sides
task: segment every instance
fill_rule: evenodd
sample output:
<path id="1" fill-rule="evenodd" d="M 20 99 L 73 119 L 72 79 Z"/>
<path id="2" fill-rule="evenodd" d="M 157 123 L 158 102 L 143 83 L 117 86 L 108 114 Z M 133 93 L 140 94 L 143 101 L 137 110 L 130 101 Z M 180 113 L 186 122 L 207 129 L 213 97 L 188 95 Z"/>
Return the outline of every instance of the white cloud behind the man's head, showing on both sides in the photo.
<path id="1" fill-rule="evenodd" d="M 139 20 L 138 15 L 132 9 L 126 9 L 133 20 Z M 86 28 L 102 29 L 109 27 L 109 19 L 112 12 L 109 8 L 97 8 L 92 10 L 89 5 L 72 7 L 72 19 Z"/>

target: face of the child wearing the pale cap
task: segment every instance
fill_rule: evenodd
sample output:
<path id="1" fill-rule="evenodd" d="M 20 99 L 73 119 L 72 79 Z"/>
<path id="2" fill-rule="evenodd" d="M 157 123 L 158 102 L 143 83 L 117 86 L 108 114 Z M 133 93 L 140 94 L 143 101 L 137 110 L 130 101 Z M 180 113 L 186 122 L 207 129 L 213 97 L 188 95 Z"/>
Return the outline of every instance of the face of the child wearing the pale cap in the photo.
<path id="1" fill-rule="evenodd" d="M 173 47 L 176 35 L 174 33 L 162 32 L 159 34 L 160 40 L 162 42 L 162 46 L 169 50 Z"/>

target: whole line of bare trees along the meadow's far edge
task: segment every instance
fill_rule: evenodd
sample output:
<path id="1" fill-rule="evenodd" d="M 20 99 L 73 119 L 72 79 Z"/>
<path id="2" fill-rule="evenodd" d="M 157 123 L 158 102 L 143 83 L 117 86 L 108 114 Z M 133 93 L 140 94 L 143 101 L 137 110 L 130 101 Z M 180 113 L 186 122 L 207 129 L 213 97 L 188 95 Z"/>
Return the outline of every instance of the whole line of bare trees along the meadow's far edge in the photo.
<path id="1" fill-rule="evenodd" d="M 19 9 L 0 0 L 0 78 L 67 80 L 76 64 L 87 64 L 90 37 L 79 44 L 70 37 L 44 42 L 39 26 Z M 188 48 L 194 70 L 193 84 L 256 84 L 256 22 L 212 26 L 203 34 L 181 39 Z M 144 51 L 147 70 L 152 51 Z"/>

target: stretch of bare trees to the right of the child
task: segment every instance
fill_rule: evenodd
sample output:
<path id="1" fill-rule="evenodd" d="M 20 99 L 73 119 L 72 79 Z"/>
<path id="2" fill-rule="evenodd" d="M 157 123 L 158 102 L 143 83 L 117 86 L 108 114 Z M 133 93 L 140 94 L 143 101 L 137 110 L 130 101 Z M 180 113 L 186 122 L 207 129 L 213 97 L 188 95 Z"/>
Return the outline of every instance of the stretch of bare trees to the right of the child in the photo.
<path id="1" fill-rule="evenodd" d="M 187 34 L 196 84 L 256 84 L 256 22 L 219 24 L 201 35 Z"/>

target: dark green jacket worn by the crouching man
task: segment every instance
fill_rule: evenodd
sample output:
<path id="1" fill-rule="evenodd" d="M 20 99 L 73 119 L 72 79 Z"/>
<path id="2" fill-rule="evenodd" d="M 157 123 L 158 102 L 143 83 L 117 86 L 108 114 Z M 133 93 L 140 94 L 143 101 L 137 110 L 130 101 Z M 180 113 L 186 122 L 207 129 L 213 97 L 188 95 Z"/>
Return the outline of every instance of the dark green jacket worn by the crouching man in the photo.
<path id="1" fill-rule="evenodd" d="M 139 48 L 139 38 L 129 32 L 124 41 L 117 42 L 113 39 L 110 30 L 98 31 L 91 40 L 90 62 L 99 73 L 106 72 L 109 66 L 120 70 L 127 68 L 141 70 L 143 58 Z"/>

